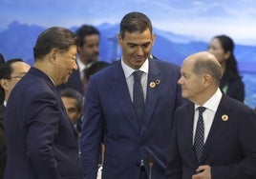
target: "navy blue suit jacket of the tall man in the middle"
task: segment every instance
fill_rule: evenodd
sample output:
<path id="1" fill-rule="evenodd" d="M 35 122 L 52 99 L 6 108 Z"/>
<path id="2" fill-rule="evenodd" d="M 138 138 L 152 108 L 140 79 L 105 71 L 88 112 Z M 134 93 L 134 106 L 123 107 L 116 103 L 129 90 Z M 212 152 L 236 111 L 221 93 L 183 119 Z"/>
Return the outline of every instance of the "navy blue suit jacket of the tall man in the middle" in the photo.
<path id="1" fill-rule="evenodd" d="M 149 171 L 149 154 L 155 157 L 152 178 L 165 178 L 174 111 L 182 103 L 179 77 L 178 66 L 149 60 L 144 125 L 139 130 L 121 62 L 91 76 L 85 95 L 81 137 L 81 159 L 88 179 L 96 178 L 103 137 L 105 179 L 139 178 L 141 158 Z M 150 87 L 149 84 L 157 80 L 160 84 Z"/>

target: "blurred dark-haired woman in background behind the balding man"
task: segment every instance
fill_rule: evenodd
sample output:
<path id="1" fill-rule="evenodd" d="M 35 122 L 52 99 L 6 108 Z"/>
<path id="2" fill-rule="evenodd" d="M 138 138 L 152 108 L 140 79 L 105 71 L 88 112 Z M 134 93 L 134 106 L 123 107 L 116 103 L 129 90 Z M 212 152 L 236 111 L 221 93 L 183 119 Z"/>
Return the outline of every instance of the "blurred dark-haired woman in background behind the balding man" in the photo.
<path id="1" fill-rule="evenodd" d="M 211 39 L 208 51 L 216 56 L 224 70 L 220 89 L 229 97 L 244 102 L 245 86 L 237 67 L 234 48 L 234 42 L 230 37 L 217 35 Z"/>

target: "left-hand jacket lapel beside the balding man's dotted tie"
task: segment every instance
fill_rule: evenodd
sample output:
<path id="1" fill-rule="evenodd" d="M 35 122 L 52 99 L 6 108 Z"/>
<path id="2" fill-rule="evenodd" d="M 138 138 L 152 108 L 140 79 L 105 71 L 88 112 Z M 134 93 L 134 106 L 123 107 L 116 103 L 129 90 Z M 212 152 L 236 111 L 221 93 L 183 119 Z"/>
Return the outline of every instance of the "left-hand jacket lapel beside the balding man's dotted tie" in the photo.
<path id="1" fill-rule="evenodd" d="M 184 144 L 188 144 L 188 153 L 187 156 L 192 156 L 192 166 L 198 166 L 198 160 L 196 158 L 194 152 L 194 144 L 193 144 L 193 125 L 194 125 L 194 114 L 195 114 L 195 107 L 194 104 L 189 102 L 187 103 L 187 108 L 184 109 L 184 122 L 182 124 L 182 128 L 184 128 L 181 132 L 184 133 Z M 179 119 L 178 119 L 179 120 Z M 190 157 L 189 157 L 190 158 Z"/>

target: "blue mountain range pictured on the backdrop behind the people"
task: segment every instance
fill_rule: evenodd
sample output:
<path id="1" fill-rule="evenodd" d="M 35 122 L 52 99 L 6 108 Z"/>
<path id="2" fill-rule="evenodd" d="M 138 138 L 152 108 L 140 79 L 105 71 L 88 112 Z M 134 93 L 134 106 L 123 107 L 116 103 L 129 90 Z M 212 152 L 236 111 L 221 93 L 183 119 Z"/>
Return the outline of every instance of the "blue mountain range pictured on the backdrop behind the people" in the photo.
<path id="1" fill-rule="evenodd" d="M 71 27 L 70 30 L 77 30 Z M 96 27 L 100 30 L 100 55 L 102 61 L 114 62 L 120 58 L 121 50 L 117 44 L 118 25 L 102 24 Z M 33 64 L 32 48 L 40 32 L 45 30 L 37 25 L 21 24 L 14 21 L 7 30 L 0 31 L 0 52 L 8 60 L 22 58 Z M 179 35 L 170 31 L 154 29 L 157 35 L 152 53 L 160 60 L 181 65 L 189 54 L 207 49 L 207 42 L 194 39 L 192 36 Z M 256 107 L 256 47 L 236 45 L 239 70 L 245 82 L 245 104 Z"/>

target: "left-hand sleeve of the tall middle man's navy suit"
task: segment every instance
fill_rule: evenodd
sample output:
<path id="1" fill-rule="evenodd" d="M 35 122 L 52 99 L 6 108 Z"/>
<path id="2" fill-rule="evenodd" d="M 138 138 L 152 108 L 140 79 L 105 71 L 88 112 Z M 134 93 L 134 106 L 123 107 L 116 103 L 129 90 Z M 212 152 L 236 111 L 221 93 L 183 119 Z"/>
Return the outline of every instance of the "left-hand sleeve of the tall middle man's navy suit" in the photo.
<path id="1" fill-rule="evenodd" d="M 94 76 L 90 78 L 85 94 L 81 135 L 81 160 L 87 179 L 95 179 L 102 142 L 102 111 Z"/>

